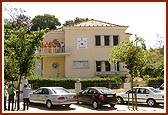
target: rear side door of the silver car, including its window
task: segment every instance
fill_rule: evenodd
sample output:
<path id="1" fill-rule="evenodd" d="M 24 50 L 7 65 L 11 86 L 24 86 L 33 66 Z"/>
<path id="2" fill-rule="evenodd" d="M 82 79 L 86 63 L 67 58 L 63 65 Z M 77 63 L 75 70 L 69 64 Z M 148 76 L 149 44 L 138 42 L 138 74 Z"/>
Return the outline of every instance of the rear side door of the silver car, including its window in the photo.
<path id="1" fill-rule="evenodd" d="M 42 93 L 40 94 L 39 101 L 40 103 L 45 104 L 46 100 L 49 98 L 49 89 L 43 88 Z"/>

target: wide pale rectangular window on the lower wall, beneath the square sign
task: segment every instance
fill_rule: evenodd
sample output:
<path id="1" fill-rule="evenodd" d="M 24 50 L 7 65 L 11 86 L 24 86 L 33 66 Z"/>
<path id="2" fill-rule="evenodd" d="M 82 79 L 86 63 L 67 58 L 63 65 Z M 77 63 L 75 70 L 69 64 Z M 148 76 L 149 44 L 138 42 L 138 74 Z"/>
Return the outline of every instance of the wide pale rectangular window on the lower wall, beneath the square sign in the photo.
<path id="1" fill-rule="evenodd" d="M 89 63 L 88 61 L 73 61 L 72 68 L 89 68 Z"/>

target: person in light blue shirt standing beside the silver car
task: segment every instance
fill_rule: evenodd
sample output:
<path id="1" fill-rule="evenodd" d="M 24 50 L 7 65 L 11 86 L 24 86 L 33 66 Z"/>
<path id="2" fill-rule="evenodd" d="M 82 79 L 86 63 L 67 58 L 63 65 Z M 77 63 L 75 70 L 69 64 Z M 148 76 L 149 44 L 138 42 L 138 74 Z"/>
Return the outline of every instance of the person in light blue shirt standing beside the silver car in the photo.
<path id="1" fill-rule="evenodd" d="M 23 89 L 23 110 L 25 110 L 27 105 L 27 110 L 29 109 L 29 98 L 30 98 L 30 88 L 28 85 L 24 85 Z"/>

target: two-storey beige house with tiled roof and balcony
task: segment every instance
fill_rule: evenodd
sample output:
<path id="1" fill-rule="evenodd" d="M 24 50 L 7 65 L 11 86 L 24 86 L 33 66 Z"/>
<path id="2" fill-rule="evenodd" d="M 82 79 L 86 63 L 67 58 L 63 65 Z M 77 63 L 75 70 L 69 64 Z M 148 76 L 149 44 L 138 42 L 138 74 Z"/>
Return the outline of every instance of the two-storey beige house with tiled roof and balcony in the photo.
<path id="1" fill-rule="evenodd" d="M 109 64 L 111 48 L 129 41 L 128 26 L 87 20 L 49 31 L 36 52 L 35 75 L 43 77 L 95 77 L 127 75 L 123 63 Z M 48 46 L 46 45 L 48 43 Z"/>

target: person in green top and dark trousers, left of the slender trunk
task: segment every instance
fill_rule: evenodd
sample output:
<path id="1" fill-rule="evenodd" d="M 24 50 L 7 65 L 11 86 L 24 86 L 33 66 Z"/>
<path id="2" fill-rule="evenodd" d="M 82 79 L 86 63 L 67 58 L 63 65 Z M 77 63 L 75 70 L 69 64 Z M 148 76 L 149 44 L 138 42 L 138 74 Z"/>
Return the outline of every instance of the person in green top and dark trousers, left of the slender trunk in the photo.
<path id="1" fill-rule="evenodd" d="M 14 111 L 13 104 L 14 104 L 14 96 L 15 96 L 15 87 L 13 84 L 9 84 L 9 87 L 7 89 L 9 98 L 8 98 L 8 111 L 10 111 L 10 103 L 12 102 L 12 111 Z"/>

